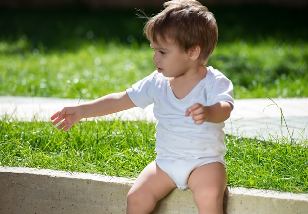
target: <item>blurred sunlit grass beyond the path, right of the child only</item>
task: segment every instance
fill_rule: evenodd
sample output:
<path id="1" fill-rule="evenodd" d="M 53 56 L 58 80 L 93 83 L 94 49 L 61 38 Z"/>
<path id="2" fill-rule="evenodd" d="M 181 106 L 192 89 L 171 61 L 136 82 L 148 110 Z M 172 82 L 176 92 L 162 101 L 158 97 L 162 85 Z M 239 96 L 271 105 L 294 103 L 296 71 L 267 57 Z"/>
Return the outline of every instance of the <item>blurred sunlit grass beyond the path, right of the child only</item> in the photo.
<path id="1" fill-rule="evenodd" d="M 218 45 L 209 64 L 232 80 L 234 97 L 307 97 L 308 43 L 267 39 Z"/>

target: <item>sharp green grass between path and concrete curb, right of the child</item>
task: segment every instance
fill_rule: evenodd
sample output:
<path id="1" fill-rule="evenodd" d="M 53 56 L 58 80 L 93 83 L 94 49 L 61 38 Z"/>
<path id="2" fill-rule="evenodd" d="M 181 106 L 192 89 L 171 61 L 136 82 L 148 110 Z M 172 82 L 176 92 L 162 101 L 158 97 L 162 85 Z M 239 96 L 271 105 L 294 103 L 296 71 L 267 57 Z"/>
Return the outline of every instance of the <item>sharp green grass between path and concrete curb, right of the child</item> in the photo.
<path id="1" fill-rule="evenodd" d="M 308 143 L 226 137 L 228 185 L 308 193 Z"/>

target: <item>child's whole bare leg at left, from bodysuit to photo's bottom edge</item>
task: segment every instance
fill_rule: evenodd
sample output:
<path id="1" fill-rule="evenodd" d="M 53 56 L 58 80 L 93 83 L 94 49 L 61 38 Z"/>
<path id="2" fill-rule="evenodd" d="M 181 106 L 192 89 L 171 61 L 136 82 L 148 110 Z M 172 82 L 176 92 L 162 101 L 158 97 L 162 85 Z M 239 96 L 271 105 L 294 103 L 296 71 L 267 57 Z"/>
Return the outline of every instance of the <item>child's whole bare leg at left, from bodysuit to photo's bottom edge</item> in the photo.
<path id="1" fill-rule="evenodd" d="M 145 167 L 127 195 L 127 214 L 149 214 L 157 201 L 176 188 L 167 173 L 156 162 Z"/>

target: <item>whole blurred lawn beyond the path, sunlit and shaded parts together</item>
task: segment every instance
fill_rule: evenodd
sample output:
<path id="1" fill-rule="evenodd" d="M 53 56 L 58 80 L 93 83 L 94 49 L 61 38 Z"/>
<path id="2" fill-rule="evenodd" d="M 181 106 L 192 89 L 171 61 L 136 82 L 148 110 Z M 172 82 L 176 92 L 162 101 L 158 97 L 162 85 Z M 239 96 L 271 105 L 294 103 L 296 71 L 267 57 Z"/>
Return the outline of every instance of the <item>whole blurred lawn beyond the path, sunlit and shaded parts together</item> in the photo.
<path id="1" fill-rule="evenodd" d="M 307 97 L 307 8 L 209 6 L 235 98 Z M 147 8 L 149 16 L 160 8 Z M 0 8 L 0 95 L 97 98 L 155 68 L 135 9 Z"/>

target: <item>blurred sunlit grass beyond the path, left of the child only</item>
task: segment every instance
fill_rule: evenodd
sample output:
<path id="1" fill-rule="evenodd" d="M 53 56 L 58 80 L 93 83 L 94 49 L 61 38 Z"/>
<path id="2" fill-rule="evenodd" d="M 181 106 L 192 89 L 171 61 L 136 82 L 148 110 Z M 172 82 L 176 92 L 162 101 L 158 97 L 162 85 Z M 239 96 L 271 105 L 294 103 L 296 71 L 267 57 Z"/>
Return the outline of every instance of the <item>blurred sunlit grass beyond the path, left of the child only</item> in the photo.
<path id="1" fill-rule="evenodd" d="M 108 43 L 75 52 L 2 56 L 0 95 L 98 98 L 123 91 L 154 71 L 151 54 L 148 47 Z"/>

